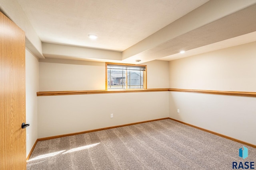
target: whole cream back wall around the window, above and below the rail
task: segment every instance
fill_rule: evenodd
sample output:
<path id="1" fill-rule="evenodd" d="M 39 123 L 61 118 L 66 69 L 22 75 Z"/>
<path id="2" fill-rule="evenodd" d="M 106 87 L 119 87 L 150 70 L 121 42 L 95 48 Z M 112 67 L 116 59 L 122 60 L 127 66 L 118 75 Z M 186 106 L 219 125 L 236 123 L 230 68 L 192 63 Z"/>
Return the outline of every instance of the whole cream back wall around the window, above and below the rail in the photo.
<path id="1" fill-rule="evenodd" d="M 148 88 L 168 88 L 168 63 L 144 63 Z M 45 59 L 39 68 L 40 91 L 105 90 L 105 63 Z M 168 98 L 168 92 L 39 96 L 38 138 L 168 117 Z"/>

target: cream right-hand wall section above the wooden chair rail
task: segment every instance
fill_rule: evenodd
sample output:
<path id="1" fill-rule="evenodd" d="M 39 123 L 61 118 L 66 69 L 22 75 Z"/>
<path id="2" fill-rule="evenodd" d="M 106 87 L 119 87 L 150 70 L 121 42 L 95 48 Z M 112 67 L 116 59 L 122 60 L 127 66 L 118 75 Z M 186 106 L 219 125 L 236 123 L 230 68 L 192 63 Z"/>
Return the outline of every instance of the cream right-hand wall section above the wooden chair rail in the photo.
<path id="1" fill-rule="evenodd" d="M 256 42 L 170 61 L 170 88 L 256 92 Z"/>

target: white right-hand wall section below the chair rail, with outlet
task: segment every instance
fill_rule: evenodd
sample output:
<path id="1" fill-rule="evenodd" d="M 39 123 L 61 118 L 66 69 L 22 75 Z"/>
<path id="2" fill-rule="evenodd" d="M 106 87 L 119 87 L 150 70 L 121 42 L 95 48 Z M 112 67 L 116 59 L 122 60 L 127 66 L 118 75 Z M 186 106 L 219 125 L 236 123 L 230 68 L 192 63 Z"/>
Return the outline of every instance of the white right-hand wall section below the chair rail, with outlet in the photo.
<path id="1" fill-rule="evenodd" d="M 169 100 L 171 118 L 256 145 L 256 98 L 170 92 Z"/>

